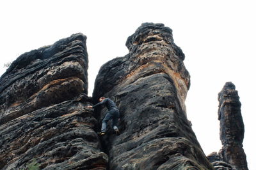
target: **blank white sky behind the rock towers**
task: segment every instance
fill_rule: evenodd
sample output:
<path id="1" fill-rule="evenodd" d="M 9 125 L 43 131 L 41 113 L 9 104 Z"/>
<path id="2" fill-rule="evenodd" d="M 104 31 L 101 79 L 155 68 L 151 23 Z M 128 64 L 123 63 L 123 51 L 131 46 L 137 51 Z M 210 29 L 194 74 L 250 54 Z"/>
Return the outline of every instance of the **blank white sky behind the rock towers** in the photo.
<path id="1" fill-rule="evenodd" d="M 90 2 L 90 3 L 89 3 Z M 187 114 L 206 155 L 221 149 L 218 92 L 236 85 L 244 151 L 255 162 L 255 3 L 253 1 L 0 1 L 0 75 L 24 52 L 82 32 L 89 54 L 89 96 L 99 67 L 128 53 L 125 41 L 143 22 L 173 30 L 191 75 Z M 254 130 L 254 131 L 253 131 Z"/>

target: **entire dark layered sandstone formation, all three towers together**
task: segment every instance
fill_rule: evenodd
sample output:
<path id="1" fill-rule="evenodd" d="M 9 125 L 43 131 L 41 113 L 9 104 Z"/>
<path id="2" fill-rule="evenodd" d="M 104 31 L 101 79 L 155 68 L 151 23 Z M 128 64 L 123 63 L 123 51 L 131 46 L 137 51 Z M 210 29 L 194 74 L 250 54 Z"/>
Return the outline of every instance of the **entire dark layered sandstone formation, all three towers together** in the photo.
<path id="1" fill-rule="evenodd" d="M 207 158 L 186 117 L 190 76 L 172 30 L 142 24 L 126 46 L 100 68 L 93 97 L 83 34 L 20 55 L 0 78 L 0 169 L 247 169 L 234 85 L 219 94 L 223 148 Z M 120 108 L 120 136 L 97 136 L 106 108 L 86 106 L 100 96 Z"/>

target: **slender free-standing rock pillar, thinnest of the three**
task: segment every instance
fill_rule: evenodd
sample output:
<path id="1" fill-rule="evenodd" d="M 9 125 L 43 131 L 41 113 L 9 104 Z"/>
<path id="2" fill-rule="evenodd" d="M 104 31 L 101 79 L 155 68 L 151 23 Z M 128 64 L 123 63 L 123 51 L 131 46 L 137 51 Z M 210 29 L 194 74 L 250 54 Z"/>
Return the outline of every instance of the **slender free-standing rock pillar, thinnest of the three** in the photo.
<path id="1" fill-rule="evenodd" d="M 243 150 L 244 123 L 241 103 L 233 83 L 227 82 L 221 90 L 218 119 L 220 120 L 220 139 L 223 145 L 220 160 L 227 162 L 232 169 L 248 169 Z"/>

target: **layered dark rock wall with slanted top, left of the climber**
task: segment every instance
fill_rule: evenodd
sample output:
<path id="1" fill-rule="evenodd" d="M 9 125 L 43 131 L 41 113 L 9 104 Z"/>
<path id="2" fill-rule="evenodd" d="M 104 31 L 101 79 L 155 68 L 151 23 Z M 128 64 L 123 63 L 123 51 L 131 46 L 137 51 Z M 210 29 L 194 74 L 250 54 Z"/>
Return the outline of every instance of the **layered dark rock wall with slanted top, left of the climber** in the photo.
<path id="1" fill-rule="evenodd" d="M 20 55 L 0 78 L 0 169 L 106 169 L 86 105 L 86 36 Z"/>

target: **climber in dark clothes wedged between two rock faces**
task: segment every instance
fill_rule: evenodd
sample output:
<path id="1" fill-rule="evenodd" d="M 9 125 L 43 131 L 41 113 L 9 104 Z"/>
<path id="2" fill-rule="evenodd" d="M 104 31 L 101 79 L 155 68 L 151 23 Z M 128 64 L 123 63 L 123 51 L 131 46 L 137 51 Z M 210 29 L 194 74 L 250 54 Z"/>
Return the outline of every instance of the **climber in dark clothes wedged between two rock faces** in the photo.
<path id="1" fill-rule="evenodd" d="M 119 110 L 116 107 L 115 102 L 113 102 L 111 99 L 106 98 L 106 97 L 100 97 L 99 102 L 95 104 L 94 106 L 87 106 L 88 108 L 97 108 L 98 106 L 106 106 L 108 108 L 108 112 L 106 113 L 106 116 L 102 120 L 102 125 L 101 125 L 101 131 L 98 132 L 100 136 L 103 136 L 106 134 L 107 131 L 107 123 L 109 120 L 112 119 L 112 127 L 114 129 L 115 134 L 120 134 L 120 131 L 118 130 L 118 127 L 116 126 L 119 118 Z"/>

